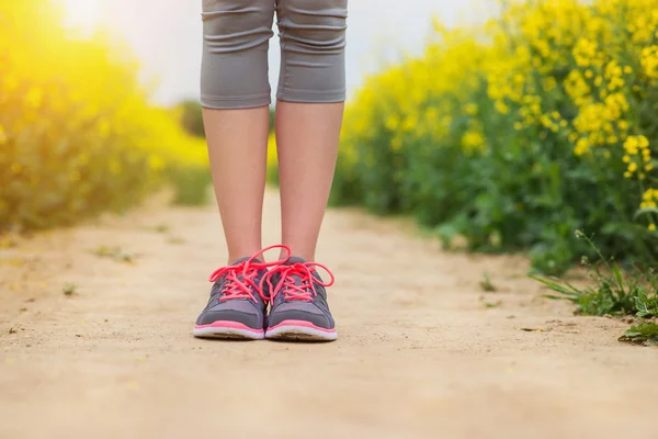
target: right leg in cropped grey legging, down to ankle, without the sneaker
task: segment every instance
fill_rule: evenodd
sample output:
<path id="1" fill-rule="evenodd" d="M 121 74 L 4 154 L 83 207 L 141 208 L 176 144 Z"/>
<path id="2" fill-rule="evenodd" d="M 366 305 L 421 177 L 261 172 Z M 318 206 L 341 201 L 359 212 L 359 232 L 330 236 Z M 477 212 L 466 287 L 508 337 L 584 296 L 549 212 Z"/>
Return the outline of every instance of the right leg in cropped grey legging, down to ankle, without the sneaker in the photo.
<path id="1" fill-rule="evenodd" d="M 315 260 L 345 99 L 347 0 L 277 0 L 276 145 L 282 240 Z"/>

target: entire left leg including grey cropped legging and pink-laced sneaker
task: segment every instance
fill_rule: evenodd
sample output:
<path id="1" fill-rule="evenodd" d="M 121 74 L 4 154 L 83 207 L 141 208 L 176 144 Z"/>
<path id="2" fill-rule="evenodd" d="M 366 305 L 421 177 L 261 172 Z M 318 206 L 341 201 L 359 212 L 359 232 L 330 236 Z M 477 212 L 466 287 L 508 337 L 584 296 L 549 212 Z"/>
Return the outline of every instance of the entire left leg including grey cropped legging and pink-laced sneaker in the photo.
<path id="1" fill-rule="evenodd" d="M 274 0 L 203 0 L 201 101 L 213 183 L 229 261 L 215 271 L 196 337 L 264 337 L 261 221 L 270 83 L 268 47 Z"/>

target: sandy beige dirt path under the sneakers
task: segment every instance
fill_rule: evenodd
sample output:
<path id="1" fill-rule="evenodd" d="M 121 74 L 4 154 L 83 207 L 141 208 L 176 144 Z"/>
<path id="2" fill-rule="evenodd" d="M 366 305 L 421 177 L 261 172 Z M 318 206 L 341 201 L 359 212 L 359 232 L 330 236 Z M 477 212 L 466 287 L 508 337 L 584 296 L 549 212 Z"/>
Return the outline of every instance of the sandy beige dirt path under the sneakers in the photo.
<path id="1" fill-rule="evenodd" d="M 265 218 L 273 244 L 274 193 Z M 151 206 L 0 250 L 0 438 L 656 438 L 657 349 L 537 299 L 520 258 L 446 255 L 401 230 L 328 214 L 330 345 L 192 338 L 226 255 L 214 207 Z M 497 307 L 480 302 L 484 272 Z"/>

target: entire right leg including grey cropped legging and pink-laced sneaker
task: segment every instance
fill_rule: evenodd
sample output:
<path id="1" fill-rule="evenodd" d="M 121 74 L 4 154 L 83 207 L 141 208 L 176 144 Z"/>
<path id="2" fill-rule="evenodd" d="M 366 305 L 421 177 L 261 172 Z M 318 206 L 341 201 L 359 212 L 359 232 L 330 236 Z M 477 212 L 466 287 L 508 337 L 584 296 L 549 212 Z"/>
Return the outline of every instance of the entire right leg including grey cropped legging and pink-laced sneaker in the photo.
<path id="1" fill-rule="evenodd" d="M 276 145 L 282 238 L 293 257 L 268 275 L 266 338 L 336 340 L 326 286 L 315 263 L 329 198 L 345 99 L 347 0 L 277 0 L 281 75 Z M 329 271 L 329 270 L 327 270 Z"/>

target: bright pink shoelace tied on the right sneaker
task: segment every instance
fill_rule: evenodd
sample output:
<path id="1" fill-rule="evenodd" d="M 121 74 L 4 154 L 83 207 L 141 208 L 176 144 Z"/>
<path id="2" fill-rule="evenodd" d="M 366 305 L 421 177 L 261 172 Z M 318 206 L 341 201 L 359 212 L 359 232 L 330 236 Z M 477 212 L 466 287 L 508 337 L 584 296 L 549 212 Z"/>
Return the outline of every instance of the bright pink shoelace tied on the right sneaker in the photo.
<path id="1" fill-rule="evenodd" d="M 321 268 L 329 273 L 331 280 L 329 282 L 322 282 L 318 278 L 315 278 L 313 274 L 316 271 L 316 268 Z M 279 283 L 276 283 L 276 286 L 273 286 L 271 278 L 275 273 L 280 273 L 281 279 Z M 299 280 L 298 284 L 296 282 L 297 280 Z M 286 301 L 313 302 L 314 297 L 318 295 L 315 283 L 322 286 L 331 286 L 334 280 L 333 273 L 327 267 L 317 262 L 299 262 L 290 266 L 277 266 L 270 270 L 263 278 L 263 281 L 266 281 L 270 286 L 270 300 L 272 302 L 279 293 L 282 293 Z"/>

